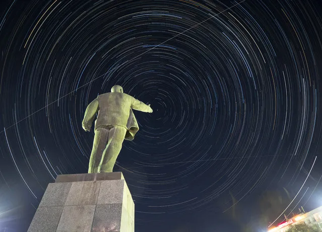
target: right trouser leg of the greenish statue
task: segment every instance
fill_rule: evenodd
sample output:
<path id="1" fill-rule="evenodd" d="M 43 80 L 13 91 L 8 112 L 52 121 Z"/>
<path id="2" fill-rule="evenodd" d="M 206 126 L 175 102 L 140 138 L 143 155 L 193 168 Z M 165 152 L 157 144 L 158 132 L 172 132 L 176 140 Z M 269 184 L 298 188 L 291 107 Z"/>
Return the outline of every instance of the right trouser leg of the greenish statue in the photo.
<path id="1" fill-rule="evenodd" d="M 115 126 L 108 133 L 107 146 L 103 152 L 103 158 L 99 165 L 99 172 L 111 173 L 116 162 L 116 158 L 122 148 L 122 143 L 126 134 L 126 128 Z"/>

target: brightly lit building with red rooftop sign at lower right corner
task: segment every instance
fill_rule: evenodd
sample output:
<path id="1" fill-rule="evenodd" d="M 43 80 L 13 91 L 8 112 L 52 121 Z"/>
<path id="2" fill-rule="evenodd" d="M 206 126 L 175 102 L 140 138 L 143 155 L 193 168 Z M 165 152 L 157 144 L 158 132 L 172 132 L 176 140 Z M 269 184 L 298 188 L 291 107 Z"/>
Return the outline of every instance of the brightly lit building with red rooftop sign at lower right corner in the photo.
<path id="1" fill-rule="evenodd" d="M 307 213 L 296 215 L 288 221 L 283 221 L 278 226 L 270 228 L 268 232 L 286 232 L 290 228 L 290 225 L 303 222 L 309 226 L 318 225 L 322 231 L 322 206 Z"/>

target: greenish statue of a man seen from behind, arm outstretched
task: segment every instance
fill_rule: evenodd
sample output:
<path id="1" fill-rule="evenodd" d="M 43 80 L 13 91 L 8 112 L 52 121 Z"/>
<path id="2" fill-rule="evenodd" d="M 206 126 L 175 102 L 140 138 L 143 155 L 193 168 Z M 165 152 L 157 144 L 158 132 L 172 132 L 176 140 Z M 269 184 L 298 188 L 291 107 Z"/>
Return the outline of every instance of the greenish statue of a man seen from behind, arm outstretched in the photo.
<path id="1" fill-rule="evenodd" d="M 85 131 L 91 130 L 98 112 L 88 173 L 113 171 L 123 140 L 133 140 L 139 130 L 132 109 L 153 112 L 150 105 L 124 94 L 120 86 L 113 86 L 111 93 L 98 95 L 88 105 L 82 122 Z"/>

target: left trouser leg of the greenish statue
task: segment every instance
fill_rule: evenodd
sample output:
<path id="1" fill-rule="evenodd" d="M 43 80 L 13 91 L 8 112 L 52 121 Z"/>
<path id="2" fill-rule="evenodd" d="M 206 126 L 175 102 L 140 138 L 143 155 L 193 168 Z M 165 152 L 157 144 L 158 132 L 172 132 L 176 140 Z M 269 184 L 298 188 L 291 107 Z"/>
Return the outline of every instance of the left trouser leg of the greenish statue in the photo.
<path id="1" fill-rule="evenodd" d="M 104 128 L 95 131 L 88 173 L 98 173 L 98 166 L 102 160 L 103 152 L 107 144 L 108 132 L 109 130 Z"/>

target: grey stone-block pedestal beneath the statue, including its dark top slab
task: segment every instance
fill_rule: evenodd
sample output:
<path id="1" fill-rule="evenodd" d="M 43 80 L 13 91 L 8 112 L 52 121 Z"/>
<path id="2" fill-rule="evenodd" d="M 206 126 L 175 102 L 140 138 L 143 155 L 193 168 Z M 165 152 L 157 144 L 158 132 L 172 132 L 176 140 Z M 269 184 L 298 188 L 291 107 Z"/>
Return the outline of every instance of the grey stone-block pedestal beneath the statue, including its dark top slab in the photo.
<path id="1" fill-rule="evenodd" d="M 122 173 L 58 175 L 28 232 L 134 232 L 134 203 Z"/>

